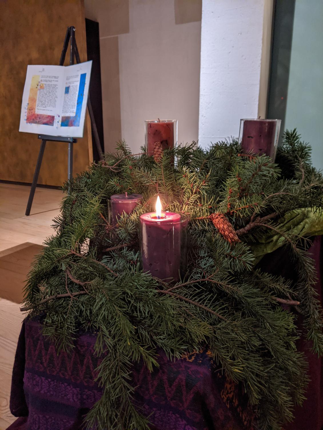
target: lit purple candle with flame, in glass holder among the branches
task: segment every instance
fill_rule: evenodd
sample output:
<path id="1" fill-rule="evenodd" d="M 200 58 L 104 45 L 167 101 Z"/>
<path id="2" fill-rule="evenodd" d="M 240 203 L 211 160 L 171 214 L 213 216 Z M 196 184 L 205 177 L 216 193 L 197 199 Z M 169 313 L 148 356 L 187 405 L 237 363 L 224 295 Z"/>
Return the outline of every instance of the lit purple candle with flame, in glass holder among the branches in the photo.
<path id="1" fill-rule="evenodd" d="M 143 270 L 159 279 L 177 281 L 186 262 L 187 220 L 176 212 L 162 212 L 159 196 L 156 212 L 140 215 L 139 219 Z"/>

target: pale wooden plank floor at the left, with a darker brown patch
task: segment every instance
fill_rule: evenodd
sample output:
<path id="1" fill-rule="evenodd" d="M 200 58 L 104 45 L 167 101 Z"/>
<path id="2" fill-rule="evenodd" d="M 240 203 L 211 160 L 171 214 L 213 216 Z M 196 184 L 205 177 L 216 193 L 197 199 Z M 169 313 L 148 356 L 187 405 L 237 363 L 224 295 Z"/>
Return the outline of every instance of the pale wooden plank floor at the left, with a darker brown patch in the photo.
<path id="1" fill-rule="evenodd" d="M 6 299 L 10 297 L 8 287 L 17 282 L 23 287 L 32 254 L 38 252 L 39 245 L 53 233 L 50 226 L 59 214 L 63 197 L 62 191 L 37 188 L 31 215 L 25 216 L 29 191 L 30 187 L 24 185 L 0 183 L 0 430 L 5 430 L 16 419 L 9 411 L 9 395 L 12 365 L 24 318 L 19 304 Z"/>

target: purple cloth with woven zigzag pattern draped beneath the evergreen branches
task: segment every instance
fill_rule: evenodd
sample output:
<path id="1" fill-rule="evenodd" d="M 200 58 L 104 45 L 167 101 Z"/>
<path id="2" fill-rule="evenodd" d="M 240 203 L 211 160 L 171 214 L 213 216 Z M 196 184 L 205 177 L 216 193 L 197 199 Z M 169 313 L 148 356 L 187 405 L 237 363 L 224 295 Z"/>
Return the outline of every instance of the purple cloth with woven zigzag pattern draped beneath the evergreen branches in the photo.
<path id="1" fill-rule="evenodd" d="M 22 326 L 10 397 L 10 410 L 20 418 L 7 430 L 79 430 L 102 394 L 95 382 L 101 361 L 95 335 L 80 334 L 72 352 L 57 354 L 40 329 L 35 319 Z M 142 364 L 133 372 L 134 397 L 152 429 L 242 430 L 248 424 L 238 388 L 216 372 L 207 351 L 175 361 L 161 353 L 158 362 L 152 373 Z"/>

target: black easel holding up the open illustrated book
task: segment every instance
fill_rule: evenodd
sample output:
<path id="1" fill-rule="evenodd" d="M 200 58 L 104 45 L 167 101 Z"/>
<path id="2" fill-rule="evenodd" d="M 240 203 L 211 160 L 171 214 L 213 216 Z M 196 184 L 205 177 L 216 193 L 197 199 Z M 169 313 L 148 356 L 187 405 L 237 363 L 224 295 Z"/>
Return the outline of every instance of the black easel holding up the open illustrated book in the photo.
<path id="1" fill-rule="evenodd" d="M 68 48 L 68 43 L 71 40 L 70 44 L 70 57 L 69 57 L 69 64 L 74 64 L 74 60 L 76 59 L 77 63 L 81 63 L 80 55 L 78 53 L 78 46 L 76 45 L 75 40 L 75 27 L 71 25 L 67 28 L 66 34 L 65 34 L 65 40 L 62 50 L 61 59 L 59 60 L 59 65 L 62 66 L 65 61 L 65 56 Z M 100 139 L 98 130 L 96 128 L 96 123 L 93 115 L 92 105 L 90 102 L 90 94 L 87 96 L 87 109 L 89 111 L 90 120 L 92 124 L 92 130 L 94 135 L 94 140 L 96 144 L 97 151 L 99 153 L 100 160 L 102 160 L 102 150 L 100 145 Z M 34 178 L 31 184 L 31 190 L 28 198 L 27 208 L 26 208 L 26 215 L 28 216 L 30 214 L 31 205 L 34 200 L 34 194 L 37 187 L 37 181 L 38 181 L 38 175 L 40 171 L 41 162 L 43 160 L 43 154 L 45 151 L 45 146 L 47 141 L 53 141 L 53 142 L 68 142 L 68 179 L 71 180 L 73 177 L 73 144 L 77 143 L 77 139 L 72 137 L 62 137 L 62 136 L 49 136 L 49 135 L 38 135 L 38 139 L 41 139 L 39 154 L 37 158 L 37 164 L 36 169 L 34 172 Z"/>

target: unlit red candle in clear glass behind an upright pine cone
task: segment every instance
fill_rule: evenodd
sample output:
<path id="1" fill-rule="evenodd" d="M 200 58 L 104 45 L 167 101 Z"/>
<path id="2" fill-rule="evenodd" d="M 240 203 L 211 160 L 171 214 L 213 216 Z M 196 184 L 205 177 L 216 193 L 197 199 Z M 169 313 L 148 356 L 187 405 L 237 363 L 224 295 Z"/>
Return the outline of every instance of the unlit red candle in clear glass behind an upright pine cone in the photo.
<path id="1" fill-rule="evenodd" d="M 177 120 L 146 120 L 145 142 L 146 152 L 154 155 L 155 142 L 160 142 L 162 150 L 177 145 Z"/>

